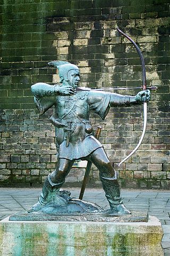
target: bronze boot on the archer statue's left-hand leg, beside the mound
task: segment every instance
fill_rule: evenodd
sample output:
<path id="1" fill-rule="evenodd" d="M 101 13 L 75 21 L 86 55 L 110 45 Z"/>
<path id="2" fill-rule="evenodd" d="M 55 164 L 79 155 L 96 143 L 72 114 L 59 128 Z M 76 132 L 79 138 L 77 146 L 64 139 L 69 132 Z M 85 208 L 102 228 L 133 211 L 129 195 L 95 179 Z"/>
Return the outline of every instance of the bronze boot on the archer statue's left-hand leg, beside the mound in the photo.
<path id="1" fill-rule="evenodd" d="M 55 202 L 55 197 L 61 186 L 63 185 L 64 181 L 60 183 L 53 183 L 50 179 L 50 174 L 48 174 L 48 177 L 46 178 L 43 185 L 42 193 L 39 197 L 39 203 L 41 205 L 45 205 L 49 202 Z"/>

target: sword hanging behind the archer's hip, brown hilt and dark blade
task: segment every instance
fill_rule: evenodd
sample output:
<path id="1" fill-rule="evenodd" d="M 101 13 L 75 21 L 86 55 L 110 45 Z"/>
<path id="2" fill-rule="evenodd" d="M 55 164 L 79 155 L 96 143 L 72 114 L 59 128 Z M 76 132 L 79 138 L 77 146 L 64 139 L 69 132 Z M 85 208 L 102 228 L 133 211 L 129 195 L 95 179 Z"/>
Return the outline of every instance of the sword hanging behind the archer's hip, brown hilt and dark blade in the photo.
<path id="1" fill-rule="evenodd" d="M 100 133 L 101 133 L 101 126 L 97 127 L 97 131 L 95 134 L 96 139 L 98 140 L 100 137 Z M 83 195 L 84 195 L 84 190 L 86 188 L 87 185 L 87 181 L 88 181 L 88 177 L 89 177 L 89 173 L 90 173 L 90 169 L 91 169 L 91 165 L 92 163 L 90 161 L 87 162 L 87 166 L 86 166 L 86 172 L 84 174 L 84 179 L 83 179 L 83 183 L 82 183 L 82 187 L 81 187 L 81 191 L 80 191 L 80 195 L 79 195 L 79 199 L 82 200 Z"/>

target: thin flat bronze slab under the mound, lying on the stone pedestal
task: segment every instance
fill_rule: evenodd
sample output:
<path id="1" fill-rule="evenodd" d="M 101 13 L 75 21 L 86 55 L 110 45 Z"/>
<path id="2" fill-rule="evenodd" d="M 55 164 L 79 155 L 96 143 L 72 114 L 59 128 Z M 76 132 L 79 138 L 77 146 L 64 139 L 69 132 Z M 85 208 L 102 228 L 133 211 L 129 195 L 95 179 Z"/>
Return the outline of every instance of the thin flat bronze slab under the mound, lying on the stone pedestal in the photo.
<path id="1" fill-rule="evenodd" d="M 58 213 L 18 212 L 9 217 L 11 221 L 104 221 L 104 222 L 147 222 L 148 212 L 132 211 L 132 214 L 109 214 L 109 210 L 98 213 Z"/>

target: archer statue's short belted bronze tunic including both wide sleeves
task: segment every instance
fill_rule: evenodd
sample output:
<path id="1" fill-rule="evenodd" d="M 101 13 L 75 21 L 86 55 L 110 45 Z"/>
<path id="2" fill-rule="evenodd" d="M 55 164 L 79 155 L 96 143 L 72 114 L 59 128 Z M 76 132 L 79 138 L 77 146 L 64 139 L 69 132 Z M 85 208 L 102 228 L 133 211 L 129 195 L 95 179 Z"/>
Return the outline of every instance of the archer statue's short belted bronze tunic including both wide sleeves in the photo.
<path id="1" fill-rule="evenodd" d="M 91 90 L 77 91 L 73 95 L 54 95 L 50 89 L 53 86 L 44 83 L 40 85 L 40 89 L 38 86 L 31 87 L 40 114 L 44 114 L 47 109 L 54 106 L 57 121 L 71 129 L 71 132 L 68 132 L 63 128 L 55 127 L 58 157 L 70 160 L 82 159 L 97 148 L 103 147 L 95 138 L 92 129 L 87 127 L 92 127 L 89 121 L 91 110 L 101 119 L 105 119 L 110 108 L 112 93 Z M 117 95 L 114 97 L 119 101 Z M 69 146 L 66 147 L 68 135 Z"/>

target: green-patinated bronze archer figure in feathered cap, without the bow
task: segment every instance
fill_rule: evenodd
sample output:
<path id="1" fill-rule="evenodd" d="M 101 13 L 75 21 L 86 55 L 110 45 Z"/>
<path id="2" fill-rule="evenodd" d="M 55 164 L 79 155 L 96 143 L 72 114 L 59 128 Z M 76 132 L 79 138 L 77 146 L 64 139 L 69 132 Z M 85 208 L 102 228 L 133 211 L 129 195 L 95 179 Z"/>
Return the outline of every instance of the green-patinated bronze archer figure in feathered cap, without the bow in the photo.
<path id="1" fill-rule="evenodd" d="M 122 203 L 116 172 L 109 161 L 103 145 L 95 138 L 89 121 L 90 111 L 105 119 L 110 107 L 130 106 L 149 101 L 150 91 L 135 96 L 117 93 L 81 90 L 79 68 L 66 61 L 52 61 L 59 71 L 60 85 L 37 83 L 31 86 L 36 106 L 44 114 L 54 106 L 55 114 L 50 121 L 55 126 L 57 164 L 48 175 L 39 198 L 40 205 L 53 201 L 65 182 L 75 160 L 87 160 L 95 164 L 113 214 L 130 214 Z M 53 194 L 53 196 L 52 196 Z"/>

